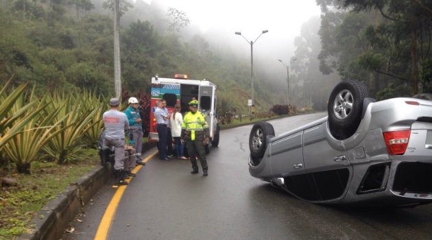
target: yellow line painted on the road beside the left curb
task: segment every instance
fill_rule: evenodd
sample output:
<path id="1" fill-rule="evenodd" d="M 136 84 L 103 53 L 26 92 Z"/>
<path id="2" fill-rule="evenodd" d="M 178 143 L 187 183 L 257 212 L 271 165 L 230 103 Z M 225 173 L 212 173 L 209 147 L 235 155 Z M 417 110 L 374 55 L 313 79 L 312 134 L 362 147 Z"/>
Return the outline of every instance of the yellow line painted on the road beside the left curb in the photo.
<path id="1" fill-rule="evenodd" d="M 147 156 L 143 160 L 143 162 L 147 163 L 147 161 L 152 158 L 154 155 L 158 153 L 158 150 Z M 132 173 L 137 173 L 139 169 L 143 167 L 142 165 L 137 165 L 134 170 L 132 170 Z M 132 178 L 126 179 L 126 181 L 129 183 Z M 104 217 L 101 219 L 101 223 L 99 224 L 99 228 L 97 228 L 95 240 L 105 240 L 106 237 L 108 237 L 108 230 L 110 230 L 110 226 L 112 223 L 112 219 L 114 218 L 115 212 L 117 210 L 117 206 L 119 206 L 119 202 L 121 200 L 121 197 L 123 196 L 123 193 L 125 192 L 126 187 L 128 185 L 120 186 L 117 191 L 114 193 L 114 196 L 112 197 L 110 204 L 108 204 L 108 207 L 106 208 L 106 211 L 104 213 Z"/>

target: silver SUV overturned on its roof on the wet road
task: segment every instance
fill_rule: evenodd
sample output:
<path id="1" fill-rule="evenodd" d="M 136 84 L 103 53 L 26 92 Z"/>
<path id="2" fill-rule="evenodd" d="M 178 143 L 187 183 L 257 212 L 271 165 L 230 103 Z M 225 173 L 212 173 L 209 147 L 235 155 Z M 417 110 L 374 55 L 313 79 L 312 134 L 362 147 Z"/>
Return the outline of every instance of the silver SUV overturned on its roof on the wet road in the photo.
<path id="1" fill-rule="evenodd" d="M 323 117 L 275 136 L 255 123 L 249 171 L 320 204 L 416 206 L 432 202 L 432 101 L 375 101 L 365 86 L 339 82 Z"/>

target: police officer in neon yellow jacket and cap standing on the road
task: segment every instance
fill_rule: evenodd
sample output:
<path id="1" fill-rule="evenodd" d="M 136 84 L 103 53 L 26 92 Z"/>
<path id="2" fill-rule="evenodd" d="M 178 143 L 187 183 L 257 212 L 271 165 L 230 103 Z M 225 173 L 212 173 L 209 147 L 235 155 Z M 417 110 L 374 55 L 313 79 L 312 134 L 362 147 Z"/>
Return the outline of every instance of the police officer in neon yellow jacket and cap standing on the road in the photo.
<path id="1" fill-rule="evenodd" d="M 182 141 L 182 143 L 186 141 L 189 156 L 193 156 L 196 151 L 196 154 L 200 159 L 203 176 L 208 176 L 208 165 L 203 141 L 209 141 L 208 136 L 210 136 L 210 132 L 208 130 L 208 124 L 204 119 L 204 116 L 197 111 L 198 103 L 199 102 L 197 100 L 192 100 L 189 102 L 190 111 L 184 115 L 180 141 Z M 198 173 L 197 160 L 195 158 L 191 158 L 191 163 L 193 169 L 191 173 Z"/>

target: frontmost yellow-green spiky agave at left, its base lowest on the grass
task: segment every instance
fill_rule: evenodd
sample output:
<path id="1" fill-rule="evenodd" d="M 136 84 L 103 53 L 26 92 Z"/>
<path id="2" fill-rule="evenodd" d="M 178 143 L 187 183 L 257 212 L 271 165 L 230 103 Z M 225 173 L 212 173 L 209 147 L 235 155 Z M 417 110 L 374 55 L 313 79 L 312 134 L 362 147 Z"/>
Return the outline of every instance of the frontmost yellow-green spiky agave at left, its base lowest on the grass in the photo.
<path id="1" fill-rule="evenodd" d="M 26 98 L 25 95 L 16 98 L 14 105 L 10 108 L 12 115 L 20 112 L 28 105 L 25 102 Z M 34 96 L 34 91 L 32 91 L 29 101 L 38 101 Z M 23 128 L 21 128 L 21 131 L 16 132 L 3 147 L 5 154 L 16 164 L 17 170 L 21 173 L 30 173 L 32 161 L 41 157 L 40 149 L 49 139 L 57 136 L 64 129 L 57 128 L 62 123 L 62 119 L 53 121 L 56 119 L 61 107 L 52 112 L 47 112 L 46 107 L 47 102 L 43 98 L 37 106 L 29 108 L 25 115 L 16 119 L 17 122 L 23 123 Z"/>

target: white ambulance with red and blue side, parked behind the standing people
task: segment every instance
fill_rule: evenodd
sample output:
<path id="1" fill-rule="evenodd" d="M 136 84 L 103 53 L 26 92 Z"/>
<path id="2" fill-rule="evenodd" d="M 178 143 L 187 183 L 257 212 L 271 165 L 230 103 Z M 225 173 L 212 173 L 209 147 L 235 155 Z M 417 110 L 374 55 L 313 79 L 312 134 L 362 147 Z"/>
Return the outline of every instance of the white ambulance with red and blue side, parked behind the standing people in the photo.
<path id="1" fill-rule="evenodd" d="M 158 141 L 156 127 L 156 101 L 165 99 L 169 114 L 176 104 L 180 104 L 180 112 L 184 116 L 189 111 L 188 103 L 197 97 L 200 104 L 198 110 L 204 115 L 210 132 L 209 143 L 203 143 L 206 154 L 210 153 L 211 146 L 219 145 L 219 123 L 216 115 L 216 85 L 206 80 L 189 80 L 188 75 L 176 74 L 174 78 L 152 77 L 152 101 L 150 112 L 150 130 L 148 141 Z"/>

